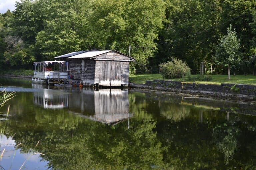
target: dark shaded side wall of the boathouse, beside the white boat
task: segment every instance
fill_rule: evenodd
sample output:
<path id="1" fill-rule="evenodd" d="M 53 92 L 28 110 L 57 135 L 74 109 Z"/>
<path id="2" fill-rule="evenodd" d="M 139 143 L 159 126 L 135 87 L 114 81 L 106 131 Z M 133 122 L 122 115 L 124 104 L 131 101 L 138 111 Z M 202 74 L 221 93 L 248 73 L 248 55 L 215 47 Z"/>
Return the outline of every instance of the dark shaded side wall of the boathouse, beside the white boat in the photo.
<path id="1" fill-rule="evenodd" d="M 96 61 L 92 59 L 71 59 L 70 74 L 84 83 L 95 84 L 95 64 Z"/>

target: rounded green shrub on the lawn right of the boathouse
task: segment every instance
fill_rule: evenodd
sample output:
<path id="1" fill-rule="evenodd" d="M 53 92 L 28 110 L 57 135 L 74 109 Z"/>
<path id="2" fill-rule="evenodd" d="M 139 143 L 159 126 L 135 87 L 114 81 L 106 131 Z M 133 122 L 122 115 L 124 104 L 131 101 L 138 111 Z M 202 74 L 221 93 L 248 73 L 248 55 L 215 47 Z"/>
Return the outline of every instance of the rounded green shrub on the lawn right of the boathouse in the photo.
<path id="1" fill-rule="evenodd" d="M 186 61 L 180 59 L 174 59 L 173 61 L 167 61 L 160 65 L 161 74 L 164 78 L 181 78 L 186 74 L 190 74 L 190 68 L 187 66 Z"/>

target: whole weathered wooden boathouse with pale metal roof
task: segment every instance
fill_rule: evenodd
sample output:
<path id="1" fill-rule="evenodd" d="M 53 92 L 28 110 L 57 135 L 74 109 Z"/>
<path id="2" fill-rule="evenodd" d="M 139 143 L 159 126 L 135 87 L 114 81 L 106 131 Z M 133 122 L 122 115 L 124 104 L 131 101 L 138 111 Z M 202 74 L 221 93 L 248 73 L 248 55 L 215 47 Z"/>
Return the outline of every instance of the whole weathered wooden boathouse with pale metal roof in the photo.
<path id="1" fill-rule="evenodd" d="M 55 58 L 66 58 L 70 75 L 82 80 L 83 85 L 128 86 L 129 64 L 134 58 L 115 50 L 88 50 L 69 55 Z"/>

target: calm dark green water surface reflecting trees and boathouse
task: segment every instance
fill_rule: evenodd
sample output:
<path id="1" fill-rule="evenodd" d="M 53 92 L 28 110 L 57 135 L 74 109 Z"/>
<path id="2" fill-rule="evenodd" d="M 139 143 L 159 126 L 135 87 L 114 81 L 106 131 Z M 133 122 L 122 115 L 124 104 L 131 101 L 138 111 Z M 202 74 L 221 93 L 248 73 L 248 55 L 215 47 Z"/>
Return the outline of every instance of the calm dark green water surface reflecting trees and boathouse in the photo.
<path id="1" fill-rule="evenodd" d="M 137 89 L 43 89 L 17 79 L 0 84 L 16 91 L 7 120 L 8 106 L 0 110 L 0 170 L 24 162 L 26 170 L 256 169 L 255 105 Z"/>

